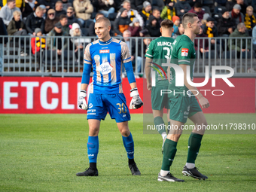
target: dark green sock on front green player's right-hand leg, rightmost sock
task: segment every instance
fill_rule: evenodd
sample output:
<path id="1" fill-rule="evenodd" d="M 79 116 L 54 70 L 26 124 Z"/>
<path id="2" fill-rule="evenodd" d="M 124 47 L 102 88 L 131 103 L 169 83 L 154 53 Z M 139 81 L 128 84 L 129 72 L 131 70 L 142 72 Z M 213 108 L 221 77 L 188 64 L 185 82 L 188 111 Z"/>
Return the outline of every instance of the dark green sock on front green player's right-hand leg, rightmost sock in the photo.
<path id="1" fill-rule="evenodd" d="M 195 163 L 197 154 L 200 150 L 203 136 L 197 133 L 191 133 L 188 139 L 187 163 Z"/>

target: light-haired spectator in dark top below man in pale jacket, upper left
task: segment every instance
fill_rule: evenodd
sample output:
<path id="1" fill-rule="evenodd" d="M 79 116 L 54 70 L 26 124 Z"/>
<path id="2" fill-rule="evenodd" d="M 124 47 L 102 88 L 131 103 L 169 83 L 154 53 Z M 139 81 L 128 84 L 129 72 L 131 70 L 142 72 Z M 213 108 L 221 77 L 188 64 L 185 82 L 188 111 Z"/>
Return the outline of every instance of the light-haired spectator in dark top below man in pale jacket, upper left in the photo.
<path id="1" fill-rule="evenodd" d="M 14 17 L 7 28 L 8 35 L 27 35 L 25 24 L 20 20 L 20 16 L 20 11 L 14 11 Z"/>

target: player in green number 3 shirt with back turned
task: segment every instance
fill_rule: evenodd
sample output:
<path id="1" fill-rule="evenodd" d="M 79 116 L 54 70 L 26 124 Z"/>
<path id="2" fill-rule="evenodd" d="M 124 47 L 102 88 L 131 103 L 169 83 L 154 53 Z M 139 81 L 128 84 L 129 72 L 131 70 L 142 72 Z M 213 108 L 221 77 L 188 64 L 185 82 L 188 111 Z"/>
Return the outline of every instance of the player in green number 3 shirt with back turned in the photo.
<path id="1" fill-rule="evenodd" d="M 171 20 L 163 20 L 160 27 L 162 36 L 154 39 L 154 41 L 151 41 L 151 44 L 148 46 L 147 53 L 145 54 L 145 73 L 148 90 L 151 90 L 151 105 L 154 116 L 154 125 L 157 126 L 157 131 L 163 137 L 163 143 L 167 137 L 166 130 L 163 126 L 165 124 L 163 121 L 163 108 L 167 108 L 167 120 L 169 124 L 169 99 L 167 94 L 160 96 L 160 92 L 161 90 L 168 89 L 169 81 L 165 76 L 165 74 L 167 74 L 167 67 L 162 66 L 162 63 L 166 63 L 166 60 L 171 56 L 172 42 L 174 41 L 174 39 L 171 38 L 173 31 L 172 27 L 173 23 Z M 151 62 L 156 63 L 158 66 Z M 151 84 L 151 67 L 149 66 L 155 68 L 155 86 L 153 87 Z M 162 67 L 163 71 L 159 68 L 159 66 Z"/>

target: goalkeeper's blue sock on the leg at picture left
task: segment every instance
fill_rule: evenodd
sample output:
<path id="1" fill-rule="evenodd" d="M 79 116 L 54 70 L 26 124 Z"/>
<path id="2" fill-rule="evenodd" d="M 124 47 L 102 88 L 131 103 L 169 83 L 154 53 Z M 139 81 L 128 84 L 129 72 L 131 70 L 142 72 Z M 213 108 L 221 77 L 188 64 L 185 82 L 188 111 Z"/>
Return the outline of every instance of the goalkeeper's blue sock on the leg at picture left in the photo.
<path id="1" fill-rule="evenodd" d="M 98 136 L 89 136 L 87 142 L 87 154 L 89 163 L 97 163 L 97 156 L 99 152 L 99 138 Z"/>

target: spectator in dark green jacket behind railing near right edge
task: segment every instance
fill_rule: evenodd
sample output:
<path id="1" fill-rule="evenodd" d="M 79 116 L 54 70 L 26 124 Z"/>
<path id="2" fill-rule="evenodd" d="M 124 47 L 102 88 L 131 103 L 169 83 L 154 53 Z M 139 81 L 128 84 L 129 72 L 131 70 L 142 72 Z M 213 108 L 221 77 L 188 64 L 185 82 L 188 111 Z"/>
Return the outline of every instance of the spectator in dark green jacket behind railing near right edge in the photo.
<path id="1" fill-rule="evenodd" d="M 245 23 L 239 23 L 235 31 L 230 35 L 230 38 L 228 39 L 228 44 L 227 44 L 230 50 L 236 50 L 238 52 L 237 53 L 238 57 L 240 56 L 240 52 L 242 52 L 242 58 L 245 58 L 246 53 L 248 53 L 248 56 L 251 55 L 250 54 L 251 40 L 242 39 L 242 42 L 241 42 L 240 38 L 245 38 L 245 37 L 249 37 L 248 33 L 246 33 Z M 230 47 L 230 41 L 231 41 L 231 47 Z M 242 49 L 241 49 L 241 45 L 242 45 Z M 247 50 L 246 50 L 246 45 L 247 45 Z"/>

